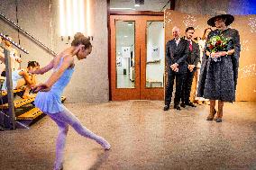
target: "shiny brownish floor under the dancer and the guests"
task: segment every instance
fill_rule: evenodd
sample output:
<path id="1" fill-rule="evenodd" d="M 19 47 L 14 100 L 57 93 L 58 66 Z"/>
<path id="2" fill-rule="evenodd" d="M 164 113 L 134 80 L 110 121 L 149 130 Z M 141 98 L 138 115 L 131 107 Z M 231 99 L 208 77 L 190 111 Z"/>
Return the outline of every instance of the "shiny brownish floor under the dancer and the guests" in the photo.
<path id="1" fill-rule="evenodd" d="M 208 105 L 163 112 L 160 101 L 65 104 L 108 139 L 111 150 L 69 129 L 65 170 L 256 169 L 256 103 L 225 103 L 224 121 Z M 50 170 L 58 129 L 49 117 L 31 130 L 0 131 L 0 169 Z"/>

